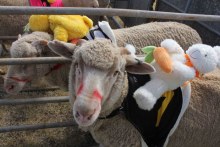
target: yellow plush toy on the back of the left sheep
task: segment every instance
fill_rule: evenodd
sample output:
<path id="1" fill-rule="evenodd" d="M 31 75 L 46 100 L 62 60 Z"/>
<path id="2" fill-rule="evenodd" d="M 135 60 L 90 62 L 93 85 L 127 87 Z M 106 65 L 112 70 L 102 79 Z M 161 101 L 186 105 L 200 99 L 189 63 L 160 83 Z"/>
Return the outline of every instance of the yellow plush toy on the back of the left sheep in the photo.
<path id="1" fill-rule="evenodd" d="M 29 18 L 30 30 L 52 31 L 54 39 L 64 42 L 83 38 L 92 26 L 93 21 L 81 15 L 32 15 Z"/>

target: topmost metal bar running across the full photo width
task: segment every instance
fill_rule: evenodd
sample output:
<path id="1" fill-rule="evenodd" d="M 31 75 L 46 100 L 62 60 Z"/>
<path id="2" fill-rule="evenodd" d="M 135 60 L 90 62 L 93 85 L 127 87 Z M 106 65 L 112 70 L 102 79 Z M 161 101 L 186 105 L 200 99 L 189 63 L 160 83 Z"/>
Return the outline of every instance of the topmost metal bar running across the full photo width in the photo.
<path id="1" fill-rule="evenodd" d="M 143 18 L 160 18 L 175 20 L 197 20 L 197 21 L 220 21 L 218 15 L 202 14 L 181 14 L 171 12 L 156 12 L 147 10 L 128 10 L 111 8 L 85 8 L 85 7 L 21 7 L 21 6 L 0 6 L 1 15 L 30 15 L 30 14 L 81 14 L 81 15 L 106 15 L 126 16 Z"/>

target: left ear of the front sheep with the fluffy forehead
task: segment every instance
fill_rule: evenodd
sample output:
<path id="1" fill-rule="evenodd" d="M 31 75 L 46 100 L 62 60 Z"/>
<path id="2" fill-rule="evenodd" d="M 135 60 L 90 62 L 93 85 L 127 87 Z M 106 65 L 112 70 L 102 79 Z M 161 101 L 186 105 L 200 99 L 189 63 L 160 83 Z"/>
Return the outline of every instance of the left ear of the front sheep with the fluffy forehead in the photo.
<path id="1" fill-rule="evenodd" d="M 72 59 L 73 52 L 76 48 L 75 44 L 58 40 L 49 41 L 47 45 L 53 52 L 68 59 Z"/>

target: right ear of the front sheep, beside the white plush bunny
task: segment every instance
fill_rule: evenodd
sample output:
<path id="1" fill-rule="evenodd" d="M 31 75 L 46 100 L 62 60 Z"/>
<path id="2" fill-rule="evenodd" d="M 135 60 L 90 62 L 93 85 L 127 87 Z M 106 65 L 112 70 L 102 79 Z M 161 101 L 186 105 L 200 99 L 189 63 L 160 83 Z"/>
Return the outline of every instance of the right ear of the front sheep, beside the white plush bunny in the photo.
<path id="1" fill-rule="evenodd" d="M 132 56 L 126 56 L 126 71 L 133 74 L 150 74 L 155 72 L 155 68 Z"/>

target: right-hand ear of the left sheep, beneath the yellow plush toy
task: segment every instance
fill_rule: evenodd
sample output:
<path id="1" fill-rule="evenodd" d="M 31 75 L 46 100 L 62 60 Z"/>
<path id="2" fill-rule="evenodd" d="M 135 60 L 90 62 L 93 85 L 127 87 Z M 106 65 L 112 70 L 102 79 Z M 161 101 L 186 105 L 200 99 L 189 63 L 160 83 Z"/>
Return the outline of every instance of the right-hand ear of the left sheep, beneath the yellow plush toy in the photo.
<path id="1" fill-rule="evenodd" d="M 35 47 L 35 49 L 37 50 L 38 54 L 41 55 L 42 52 L 46 52 L 46 50 L 49 50 L 47 47 L 47 40 L 37 40 L 37 41 L 33 41 L 31 43 L 31 45 L 33 47 Z"/>

